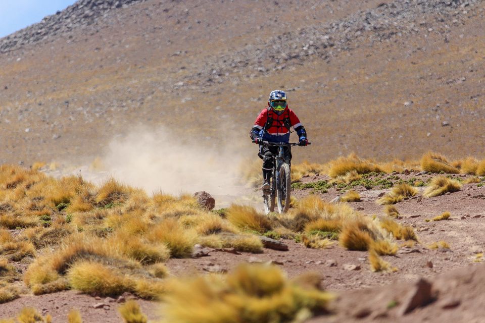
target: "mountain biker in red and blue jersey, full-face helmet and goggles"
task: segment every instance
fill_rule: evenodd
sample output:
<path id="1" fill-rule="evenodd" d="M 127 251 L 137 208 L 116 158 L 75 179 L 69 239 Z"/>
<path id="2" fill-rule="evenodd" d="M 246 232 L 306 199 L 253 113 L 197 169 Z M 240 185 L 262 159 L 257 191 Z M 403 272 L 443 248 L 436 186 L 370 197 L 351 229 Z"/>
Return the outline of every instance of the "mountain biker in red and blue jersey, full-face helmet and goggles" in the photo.
<path id="1" fill-rule="evenodd" d="M 288 107 L 286 93 L 281 90 L 269 94 L 268 107 L 263 109 L 256 118 L 250 136 L 258 144 L 262 141 L 289 142 L 290 128 L 293 127 L 300 137 L 300 146 L 308 144 L 307 132 L 297 115 Z M 290 147 L 283 147 L 285 156 L 292 159 Z M 266 147 L 260 144 L 258 156 L 263 159 L 263 190 L 270 193 L 269 179 L 273 170 L 274 155 L 278 154 L 278 147 Z"/>

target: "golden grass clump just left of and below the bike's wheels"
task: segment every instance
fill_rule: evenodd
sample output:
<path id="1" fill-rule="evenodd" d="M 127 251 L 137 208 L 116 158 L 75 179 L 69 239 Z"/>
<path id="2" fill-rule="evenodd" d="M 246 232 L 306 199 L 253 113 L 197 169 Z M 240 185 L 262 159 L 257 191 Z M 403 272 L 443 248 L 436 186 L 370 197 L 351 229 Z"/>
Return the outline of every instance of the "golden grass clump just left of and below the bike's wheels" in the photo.
<path id="1" fill-rule="evenodd" d="M 226 212 L 227 220 L 237 228 L 265 232 L 271 230 L 271 223 L 252 206 L 232 204 Z"/>

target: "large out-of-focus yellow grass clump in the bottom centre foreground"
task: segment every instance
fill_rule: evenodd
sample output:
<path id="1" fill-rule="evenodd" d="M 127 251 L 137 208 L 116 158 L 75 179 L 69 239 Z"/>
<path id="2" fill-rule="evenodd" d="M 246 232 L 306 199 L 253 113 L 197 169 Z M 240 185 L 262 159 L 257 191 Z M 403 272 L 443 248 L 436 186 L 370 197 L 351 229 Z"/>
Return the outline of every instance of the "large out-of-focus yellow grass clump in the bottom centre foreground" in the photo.
<path id="1" fill-rule="evenodd" d="M 164 296 L 163 322 L 293 321 L 302 311 L 327 312 L 329 293 L 288 281 L 274 266 L 241 265 L 226 279 L 173 280 Z"/>

